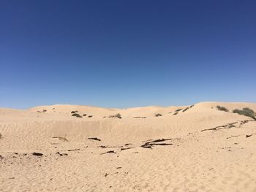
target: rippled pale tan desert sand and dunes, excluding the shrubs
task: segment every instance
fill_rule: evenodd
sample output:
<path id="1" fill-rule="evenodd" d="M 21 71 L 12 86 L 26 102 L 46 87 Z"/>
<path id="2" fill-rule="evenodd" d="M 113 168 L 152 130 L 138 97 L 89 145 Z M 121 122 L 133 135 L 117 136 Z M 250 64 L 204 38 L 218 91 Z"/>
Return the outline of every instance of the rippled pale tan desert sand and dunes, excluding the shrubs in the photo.
<path id="1" fill-rule="evenodd" d="M 256 191 L 256 121 L 217 105 L 256 111 L 215 102 L 177 115 L 187 106 L 0 109 L 0 191 Z"/>

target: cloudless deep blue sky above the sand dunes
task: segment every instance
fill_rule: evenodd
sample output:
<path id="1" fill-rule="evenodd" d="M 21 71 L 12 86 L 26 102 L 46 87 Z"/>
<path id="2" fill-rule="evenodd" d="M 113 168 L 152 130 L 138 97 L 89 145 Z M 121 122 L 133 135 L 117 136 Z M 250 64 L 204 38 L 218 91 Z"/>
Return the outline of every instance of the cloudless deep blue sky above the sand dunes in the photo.
<path id="1" fill-rule="evenodd" d="M 0 107 L 256 102 L 256 1 L 0 1 Z"/>

